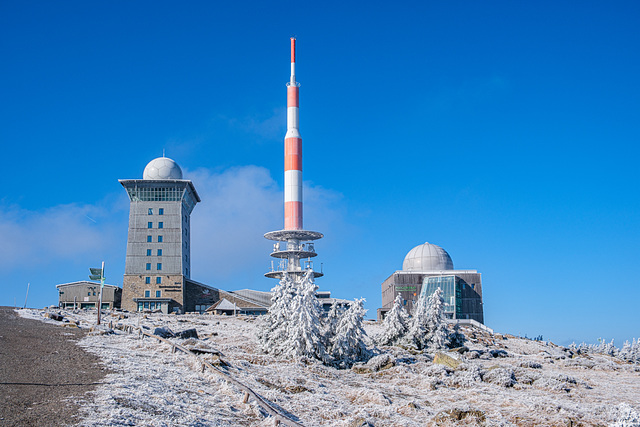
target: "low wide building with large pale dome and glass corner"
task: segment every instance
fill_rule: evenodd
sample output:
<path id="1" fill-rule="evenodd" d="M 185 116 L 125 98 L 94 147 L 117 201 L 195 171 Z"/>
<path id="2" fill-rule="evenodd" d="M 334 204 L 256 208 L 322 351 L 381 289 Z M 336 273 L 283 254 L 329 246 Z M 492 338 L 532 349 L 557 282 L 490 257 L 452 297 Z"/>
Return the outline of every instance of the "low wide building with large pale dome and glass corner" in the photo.
<path id="1" fill-rule="evenodd" d="M 455 270 L 449 253 L 438 245 L 423 243 L 404 257 L 402 270 L 382 282 L 382 308 L 378 320 L 391 310 L 397 295 L 412 313 L 422 295 L 427 298 L 441 288 L 445 315 L 450 319 L 470 319 L 484 323 L 482 278 L 477 270 Z"/>

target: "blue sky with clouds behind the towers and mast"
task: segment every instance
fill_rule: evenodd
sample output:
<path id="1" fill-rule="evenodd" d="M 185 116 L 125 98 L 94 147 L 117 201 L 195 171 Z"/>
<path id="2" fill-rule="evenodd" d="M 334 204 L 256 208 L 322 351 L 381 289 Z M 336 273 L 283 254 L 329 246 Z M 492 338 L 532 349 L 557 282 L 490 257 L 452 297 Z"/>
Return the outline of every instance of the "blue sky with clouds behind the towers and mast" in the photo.
<path id="1" fill-rule="evenodd" d="M 233 3 L 233 4 L 232 4 Z M 270 289 L 298 37 L 305 228 L 321 289 L 380 306 L 425 241 L 483 274 L 497 331 L 640 337 L 640 4 L 0 4 L 0 304 L 106 261 L 162 150 L 203 202 L 192 277 Z"/>

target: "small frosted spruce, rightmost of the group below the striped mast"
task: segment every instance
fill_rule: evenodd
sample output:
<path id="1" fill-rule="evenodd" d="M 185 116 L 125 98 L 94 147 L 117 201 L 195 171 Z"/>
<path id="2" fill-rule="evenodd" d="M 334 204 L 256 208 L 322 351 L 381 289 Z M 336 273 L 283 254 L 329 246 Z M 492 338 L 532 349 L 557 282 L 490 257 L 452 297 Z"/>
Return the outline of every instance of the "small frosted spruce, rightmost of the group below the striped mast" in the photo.
<path id="1" fill-rule="evenodd" d="M 364 298 L 356 299 L 340 317 L 336 334 L 331 338 L 331 354 L 339 367 L 350 367 L 371 356 L 365 337 L 362 319 L 366 313 Z"/>

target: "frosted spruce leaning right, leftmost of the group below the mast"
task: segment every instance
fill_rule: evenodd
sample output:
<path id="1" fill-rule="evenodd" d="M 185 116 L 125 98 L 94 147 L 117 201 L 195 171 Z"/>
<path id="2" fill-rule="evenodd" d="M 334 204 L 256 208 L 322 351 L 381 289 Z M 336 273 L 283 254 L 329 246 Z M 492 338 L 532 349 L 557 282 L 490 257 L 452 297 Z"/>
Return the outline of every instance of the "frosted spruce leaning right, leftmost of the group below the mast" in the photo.
<path id="1" fill-rule="evenodd" d="M 284 352 L 285 343 L 289 336 L 288 324 L 296 294 L 295 283 L 287 273 L 284 273 L 278 285 L 271 289 L 271 292 L 273 294 L 272 304 L 258 329 L 258 341 L 262 351 L 278 356 Z"/>

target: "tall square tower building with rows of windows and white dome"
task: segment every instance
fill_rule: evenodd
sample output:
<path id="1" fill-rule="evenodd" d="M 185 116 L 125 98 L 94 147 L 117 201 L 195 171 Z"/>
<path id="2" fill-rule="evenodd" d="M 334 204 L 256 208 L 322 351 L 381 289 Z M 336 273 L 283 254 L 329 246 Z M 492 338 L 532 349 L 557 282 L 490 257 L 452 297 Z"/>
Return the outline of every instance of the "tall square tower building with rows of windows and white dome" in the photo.
<path id="1" fill-rule="evenodd" d="M 122 308 L 187 311 L 190 215 L 200 202 L 193 183 L 167 157 L 152 160 L 143 179 L 119 182 L 131 200 Z"/>

